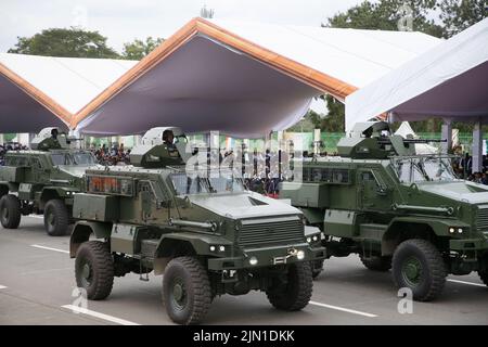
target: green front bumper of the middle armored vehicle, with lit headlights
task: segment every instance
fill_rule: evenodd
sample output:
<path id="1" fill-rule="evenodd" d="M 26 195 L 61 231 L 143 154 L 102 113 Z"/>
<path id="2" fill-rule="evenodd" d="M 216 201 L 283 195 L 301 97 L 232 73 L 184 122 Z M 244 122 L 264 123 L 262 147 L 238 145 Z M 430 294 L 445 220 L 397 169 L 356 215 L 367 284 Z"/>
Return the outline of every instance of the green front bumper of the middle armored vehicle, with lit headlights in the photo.
<path id="1" fill-rule="evenodd" d="M 291 250 L 303 250 L 304 259 L 299 260 L 296 256 L 291 255 Z M 249 260 L 257 260 L 256 265 L 251 265 Z M 313 247 L 307 243 L 290 246 L 260 247 L 249 248 L 243 252 L 239 257 L 210 258 L 208 259 L 208 269 L 214 271 L 221 270 L 239 270 L 239 269 L 256 269 L 260 267 L 272 267 L 283 264 L 293 264 L 298 261 L 313 261 L 325 258 L 324 247 Z"/>

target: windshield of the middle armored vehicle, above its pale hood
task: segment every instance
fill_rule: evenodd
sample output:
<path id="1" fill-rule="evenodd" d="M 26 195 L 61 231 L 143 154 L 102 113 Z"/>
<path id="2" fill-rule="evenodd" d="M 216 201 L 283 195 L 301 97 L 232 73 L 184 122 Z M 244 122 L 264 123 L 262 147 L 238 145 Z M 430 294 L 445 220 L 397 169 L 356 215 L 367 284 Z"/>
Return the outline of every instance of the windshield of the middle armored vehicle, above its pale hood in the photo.
<path id="1" fill-rule="evenodd" d="M 172 174 L 170 178 L 178 195 L 232 193 L 245 190 L 242 179 L 232 175 L 198 177 L 181 172 Z"/>

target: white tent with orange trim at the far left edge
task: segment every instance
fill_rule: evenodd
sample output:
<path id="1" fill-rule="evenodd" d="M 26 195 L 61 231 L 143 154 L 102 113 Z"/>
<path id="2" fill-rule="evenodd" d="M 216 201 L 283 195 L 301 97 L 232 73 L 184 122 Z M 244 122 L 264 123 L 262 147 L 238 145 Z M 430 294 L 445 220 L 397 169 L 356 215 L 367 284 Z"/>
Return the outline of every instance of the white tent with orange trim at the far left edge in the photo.
<path id="1" fill-rule="evenodd" d="M 68 128 L 134 61 L 0 53 L 0 132 Z"/>

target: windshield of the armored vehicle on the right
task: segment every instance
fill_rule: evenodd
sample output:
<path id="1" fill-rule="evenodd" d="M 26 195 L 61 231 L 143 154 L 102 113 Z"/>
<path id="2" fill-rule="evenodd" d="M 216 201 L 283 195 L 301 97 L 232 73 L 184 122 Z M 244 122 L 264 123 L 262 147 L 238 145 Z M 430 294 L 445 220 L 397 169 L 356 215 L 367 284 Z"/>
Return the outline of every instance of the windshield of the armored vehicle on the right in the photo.
<path id="1" fill-rule="evenodd" d="M 448 157 L 409 157 L 391 159 L 402 183 L 451 181 L 455 179 Z"/>

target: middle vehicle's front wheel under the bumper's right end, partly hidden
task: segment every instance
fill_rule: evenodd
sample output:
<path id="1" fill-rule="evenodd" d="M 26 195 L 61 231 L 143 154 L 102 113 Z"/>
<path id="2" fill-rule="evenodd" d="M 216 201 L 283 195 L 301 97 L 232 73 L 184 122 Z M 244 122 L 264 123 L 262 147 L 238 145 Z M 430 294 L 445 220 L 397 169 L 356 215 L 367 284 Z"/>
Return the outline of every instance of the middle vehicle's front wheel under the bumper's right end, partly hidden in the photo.
<path id="1" fill-rule="evenodd" d="M 308 261 L 288 266 L 286 281 L 278 281 L 266 291 L 268 300 L 279 310 L 298 311 L 308 305 L 313 281 Z"/>

